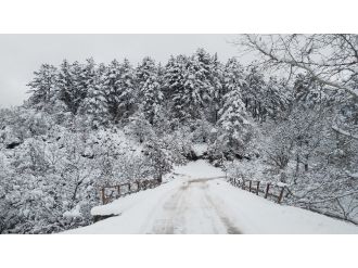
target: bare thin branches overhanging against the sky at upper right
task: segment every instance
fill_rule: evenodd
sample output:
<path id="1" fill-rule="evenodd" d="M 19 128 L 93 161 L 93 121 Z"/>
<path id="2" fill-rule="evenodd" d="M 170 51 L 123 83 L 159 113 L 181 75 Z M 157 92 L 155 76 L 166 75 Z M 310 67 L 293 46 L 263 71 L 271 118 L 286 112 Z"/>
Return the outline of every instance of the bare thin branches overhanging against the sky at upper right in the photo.
<path id="1" fill-rule="evenodd" d="M 289 78 L 305 71 L 332 90 L 346 92 L 358 102 L 358 35 L 244 35 L 234 42 L 245 52 L 258 53 L 266 68 L 284 69 Z M 333 123 L 341 135 L 358 139 L 356 128 L 343 129 Z"/>

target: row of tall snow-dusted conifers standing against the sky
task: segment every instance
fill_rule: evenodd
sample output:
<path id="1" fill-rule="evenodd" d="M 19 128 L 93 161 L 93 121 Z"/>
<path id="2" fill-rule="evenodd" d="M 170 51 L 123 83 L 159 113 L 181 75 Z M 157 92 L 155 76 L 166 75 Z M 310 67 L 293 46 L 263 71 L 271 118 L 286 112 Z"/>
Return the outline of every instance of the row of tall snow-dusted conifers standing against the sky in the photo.
<path id="1" fill-rule="evenodd" d="M 151 58 L 137 67 L 128 60 L 43 64 L 28 86 L 27 106 L 62 115 L 63 120 L 81 116 L 93 129 L 128 123 L 163 131 L 217 126 L 225 129 L 219 135 L 231 151 L 243 146 L 253 120 L 277 118 L 291 98 L 282 80 L 266 79 L 258 68 L 243 67 L 234 58 L 223 64 L 203 49 L 191 56 L 171 56 L 164 66 Z M 145 133 L 138 135 L 143 141 Z"/>

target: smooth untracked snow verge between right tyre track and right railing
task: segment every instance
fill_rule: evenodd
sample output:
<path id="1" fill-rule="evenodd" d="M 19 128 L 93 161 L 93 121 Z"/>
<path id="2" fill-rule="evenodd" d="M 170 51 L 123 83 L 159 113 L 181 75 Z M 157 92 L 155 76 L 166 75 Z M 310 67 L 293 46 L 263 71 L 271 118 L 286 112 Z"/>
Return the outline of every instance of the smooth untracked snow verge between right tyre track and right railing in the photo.
<path id="1" fill-rule="evenodd" d="M 358 233 L 358 227 L 293 206 L 279 205 L 220 181 L 210 194 L 243 233 Z"/>

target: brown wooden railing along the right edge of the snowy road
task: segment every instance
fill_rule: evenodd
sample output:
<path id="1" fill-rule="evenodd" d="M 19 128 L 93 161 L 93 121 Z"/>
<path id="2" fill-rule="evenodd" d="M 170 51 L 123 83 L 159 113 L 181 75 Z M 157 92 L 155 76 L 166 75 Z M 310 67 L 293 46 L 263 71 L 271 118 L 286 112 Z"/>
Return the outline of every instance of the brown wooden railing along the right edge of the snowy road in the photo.
<path id="1" fill-rule="evenodd" d="M 282 182 L 273 183 L 259 180 L 229 178 L 228 181 L 233 186 L 246 190 L 256 195 L 263 195 L 265 199 L 272 199 L 281 204 L 287 186 Z"/>

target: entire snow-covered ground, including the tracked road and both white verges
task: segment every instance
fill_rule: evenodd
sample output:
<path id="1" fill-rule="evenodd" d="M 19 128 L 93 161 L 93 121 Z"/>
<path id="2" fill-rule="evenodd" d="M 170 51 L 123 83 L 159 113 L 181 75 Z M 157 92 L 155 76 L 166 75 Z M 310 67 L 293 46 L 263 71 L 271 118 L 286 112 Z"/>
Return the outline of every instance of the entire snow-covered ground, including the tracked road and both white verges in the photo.
<path id="1" fill-rule="evenodd" d="M 158 188 L 92 209 L 118 216 L 65 233 L 358 233 L 358 227 L 233 188 L 205 161 Z"/>

